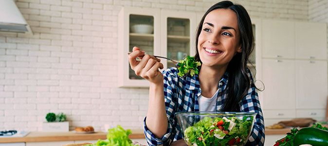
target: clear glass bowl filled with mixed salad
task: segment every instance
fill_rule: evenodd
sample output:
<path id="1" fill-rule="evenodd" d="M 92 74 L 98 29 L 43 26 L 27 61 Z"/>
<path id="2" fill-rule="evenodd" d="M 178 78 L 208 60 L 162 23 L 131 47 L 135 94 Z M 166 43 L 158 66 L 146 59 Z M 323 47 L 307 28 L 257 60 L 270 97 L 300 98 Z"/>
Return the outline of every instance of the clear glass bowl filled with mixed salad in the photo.
<path id="1" fill-rule="evenodd" d="M 255 122 L 251 112 L 177 112 L 188 146 L 244 146 Z"/>

